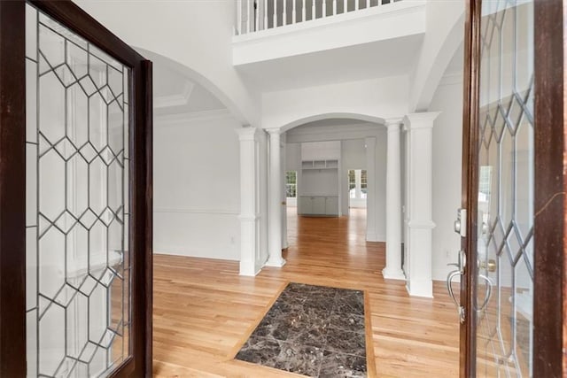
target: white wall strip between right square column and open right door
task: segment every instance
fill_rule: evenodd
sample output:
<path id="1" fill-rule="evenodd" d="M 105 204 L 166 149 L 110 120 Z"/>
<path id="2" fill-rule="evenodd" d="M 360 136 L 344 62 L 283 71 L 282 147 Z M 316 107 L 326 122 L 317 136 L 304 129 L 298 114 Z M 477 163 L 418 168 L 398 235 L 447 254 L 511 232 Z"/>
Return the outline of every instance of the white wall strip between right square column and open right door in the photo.
<path id="1" fill-rule="evenodd" d="M 461 239 L 453 222 L 461 207 L 462 75 L 445 76 L 431 101 L 431 112 L 441 112 L 433 127 L 432 276 L 445 280 L 454 269 Z"/>

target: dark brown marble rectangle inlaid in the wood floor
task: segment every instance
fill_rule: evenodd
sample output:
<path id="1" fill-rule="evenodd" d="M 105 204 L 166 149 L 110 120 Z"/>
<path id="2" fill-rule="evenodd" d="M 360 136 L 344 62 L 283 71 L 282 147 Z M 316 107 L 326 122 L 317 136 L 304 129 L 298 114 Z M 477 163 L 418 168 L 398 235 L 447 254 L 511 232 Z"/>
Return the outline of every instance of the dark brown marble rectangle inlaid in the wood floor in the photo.
<path id="1" fill-rule="evenodd" d="M 312 377 L 366 377 L 364 294 L 290 283 L 235 359 Z"/>

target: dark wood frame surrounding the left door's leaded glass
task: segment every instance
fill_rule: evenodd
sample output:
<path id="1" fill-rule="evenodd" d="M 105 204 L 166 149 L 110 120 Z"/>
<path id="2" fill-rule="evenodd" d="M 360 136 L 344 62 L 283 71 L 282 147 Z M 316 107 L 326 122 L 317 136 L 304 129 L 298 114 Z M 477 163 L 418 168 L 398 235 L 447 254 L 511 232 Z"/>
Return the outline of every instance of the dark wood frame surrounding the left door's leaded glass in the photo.
<path id="1" fill-rule="evenodd" d="M 151 62 L 69 0 L 28 0 L 132 70 L 130 113 L 132 358 L 119 376 L 151 376 Z M 0 376 L 26 375 L 26 1 L 0 1 Z"/>

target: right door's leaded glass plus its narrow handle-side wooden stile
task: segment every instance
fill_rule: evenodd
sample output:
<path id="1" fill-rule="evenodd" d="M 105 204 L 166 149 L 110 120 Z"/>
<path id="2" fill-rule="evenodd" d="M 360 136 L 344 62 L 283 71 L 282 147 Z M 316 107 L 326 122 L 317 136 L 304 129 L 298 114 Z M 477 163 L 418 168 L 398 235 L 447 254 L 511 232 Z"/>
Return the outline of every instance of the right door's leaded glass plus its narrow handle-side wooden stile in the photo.
<path id="1" fill-rule="evenodd" d="M 474 1 L 469 11 L 461 374 L 530 377 L 537 197 L 534 2 Z"/>

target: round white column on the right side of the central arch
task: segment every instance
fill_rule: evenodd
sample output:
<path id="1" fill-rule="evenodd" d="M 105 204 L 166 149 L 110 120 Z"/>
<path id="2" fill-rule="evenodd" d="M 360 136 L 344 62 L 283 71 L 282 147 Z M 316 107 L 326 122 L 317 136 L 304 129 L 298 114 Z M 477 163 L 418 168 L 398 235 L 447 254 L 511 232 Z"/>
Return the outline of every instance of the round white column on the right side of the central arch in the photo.
<path id="1" fill-rule="evenodd" d="M 401 120 L 386 122 L 386 266 L 385 279 L 405 280 L 401 270 Z"/>

